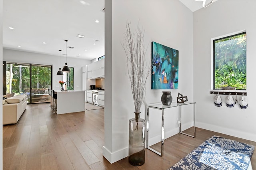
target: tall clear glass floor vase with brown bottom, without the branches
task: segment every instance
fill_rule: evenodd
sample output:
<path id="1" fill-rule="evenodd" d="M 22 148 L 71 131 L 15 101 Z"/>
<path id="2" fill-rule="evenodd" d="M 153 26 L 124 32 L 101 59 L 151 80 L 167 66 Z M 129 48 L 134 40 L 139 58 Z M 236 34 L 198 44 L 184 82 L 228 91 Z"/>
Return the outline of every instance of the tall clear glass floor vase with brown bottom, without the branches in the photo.
<path id="1" fill-rule="evenodd" d="M 140 119 L 140 113 L 129 120 L 129 163 L 141 166 L 145 163 L 145 119 Z"/>

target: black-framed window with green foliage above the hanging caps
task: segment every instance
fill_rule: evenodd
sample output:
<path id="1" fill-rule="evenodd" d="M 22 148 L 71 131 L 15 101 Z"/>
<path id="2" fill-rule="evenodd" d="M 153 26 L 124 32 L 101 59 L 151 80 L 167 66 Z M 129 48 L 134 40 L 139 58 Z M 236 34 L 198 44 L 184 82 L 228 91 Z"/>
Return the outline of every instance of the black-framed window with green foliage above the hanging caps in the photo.
<path id="1" fill-rule="evenodd" d="M 246 89 L 246 32 L 213 40 L 214 89 Z"/>

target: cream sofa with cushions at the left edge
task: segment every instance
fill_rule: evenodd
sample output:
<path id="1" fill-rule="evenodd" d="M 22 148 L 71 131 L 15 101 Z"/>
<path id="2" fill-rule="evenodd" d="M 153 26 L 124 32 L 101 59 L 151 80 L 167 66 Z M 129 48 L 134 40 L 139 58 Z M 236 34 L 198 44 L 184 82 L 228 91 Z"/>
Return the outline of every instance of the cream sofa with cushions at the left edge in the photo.
<path id="1" fill-rule="evenodd" d="M 26 109 L 27 95 L 16 95 L 3 100 L 3 125 L 17 123 Z"/>

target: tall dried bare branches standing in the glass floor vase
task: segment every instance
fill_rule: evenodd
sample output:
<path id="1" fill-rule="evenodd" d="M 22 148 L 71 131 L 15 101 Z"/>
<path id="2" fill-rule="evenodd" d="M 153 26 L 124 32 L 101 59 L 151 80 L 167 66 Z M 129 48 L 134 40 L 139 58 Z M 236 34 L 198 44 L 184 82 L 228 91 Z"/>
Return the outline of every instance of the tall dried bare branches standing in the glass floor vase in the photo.
<path id="1" fill-rule="evenodd" d="M 151 73 L 151 65 L 146 65 L 146 51 L 144 46 L 144 31 L 139 27 L 135 33 L 131 32 L 130 23 L 126 24 L 122 46 L 126 54 L 128 75 L 131 82 L 135 113 L 140 113 L 140 107 L 146 93 L 146 81 Z"/>

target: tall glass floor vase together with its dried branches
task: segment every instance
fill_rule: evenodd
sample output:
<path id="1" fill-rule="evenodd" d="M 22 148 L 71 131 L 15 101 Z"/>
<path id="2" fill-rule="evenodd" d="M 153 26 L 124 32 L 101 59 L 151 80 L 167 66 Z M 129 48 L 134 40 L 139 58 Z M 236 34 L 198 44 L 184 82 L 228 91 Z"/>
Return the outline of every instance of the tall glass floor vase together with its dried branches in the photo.
<path id="1" fill-rule="evenodd" d="M 128 75 L 131 83 L 132 96 L 135 106 L 135 117 L 129 120 L 129 163 L 141 166 L 145 163 L 145 134 L 146 121 L 140 118 L 146 92 L 146 80 L 151 73 L 152 66 L 146 68 L 146 49 L 144 47 L 144 32 L 137 28 L 133 34 L 130 23 L 126 24 L 126 34 L 122 43 L 126 53 Z"/>

